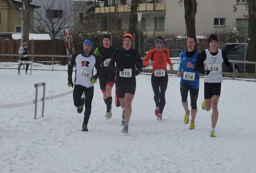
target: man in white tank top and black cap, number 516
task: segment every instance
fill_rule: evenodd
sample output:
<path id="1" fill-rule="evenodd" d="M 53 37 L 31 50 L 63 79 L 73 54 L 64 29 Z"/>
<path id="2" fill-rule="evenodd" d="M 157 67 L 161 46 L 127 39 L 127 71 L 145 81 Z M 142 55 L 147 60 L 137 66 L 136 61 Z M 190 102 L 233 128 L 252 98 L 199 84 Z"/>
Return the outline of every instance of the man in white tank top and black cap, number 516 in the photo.
<path id="1" fill-rule="evenodd" d="M 233 68 L 228 62 L 226 52 L 217 48 L 217 36 L 210 35 L 208 42 L 210 48 L 200 53 L 195 70 L 205 74 L 202 109 L 205 109 L 206 111 L 212 109 L 210 137 L 216 137 L 215 126 L 219 117 L 218 102 L 221 95 L 221 83 L 223 81 L 222 63 L 224 62 L 230 72 L 233 72 Z"/>

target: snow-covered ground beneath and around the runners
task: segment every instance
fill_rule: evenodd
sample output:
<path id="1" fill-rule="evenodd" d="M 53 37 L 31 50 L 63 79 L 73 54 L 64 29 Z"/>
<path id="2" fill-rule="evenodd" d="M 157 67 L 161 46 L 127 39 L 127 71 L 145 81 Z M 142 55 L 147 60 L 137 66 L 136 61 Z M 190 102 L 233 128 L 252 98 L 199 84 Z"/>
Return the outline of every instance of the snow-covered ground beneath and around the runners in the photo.
<path id="1" fill-rule="evenodd" d="M 34 83 L 46 96 L 69 92 L 67 72 L 0 69 L 0 105 L 32 101 Z M 74 79 L 74 78 L 73 78 Z M 137 76 L 129 133 L 122 134 L 121 108 L 106 106 L 95 85 L 89 132 L 72 94 L 45 102 L 45 117 L 33 120 L 34 105 L 0 109 L 0 173 L 255 173 L 255 82 L 224 80 L 217 138 L 210 138 L 211 112 L 198 109 L 195 130 L 183 122 L 177 77 L 170 76 L 163 121 L 154 115 L 150 75 Z M 198 108 L 203 101 L 200 79 Z M 41 93 L 42 88 L 39 89 Z M 39 103 L 37 116 L 41 114 Z"/>

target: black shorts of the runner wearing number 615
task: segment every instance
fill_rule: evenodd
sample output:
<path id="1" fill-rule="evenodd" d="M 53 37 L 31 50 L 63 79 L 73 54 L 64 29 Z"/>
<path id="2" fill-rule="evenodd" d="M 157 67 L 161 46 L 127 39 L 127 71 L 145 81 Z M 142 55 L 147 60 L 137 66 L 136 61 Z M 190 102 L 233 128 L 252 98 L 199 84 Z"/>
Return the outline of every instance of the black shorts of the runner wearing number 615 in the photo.
<path id="1" fill-rule="evenodd" d="M 118 97 L 122 99 L 124 98 L 125 93 L 133 95 L 135 94 L 136 78 L 132 77 L 130 79 L 123 79 L 123 77 L 120 77 L 117 79 L 115 85 L 117 88 Z"/>

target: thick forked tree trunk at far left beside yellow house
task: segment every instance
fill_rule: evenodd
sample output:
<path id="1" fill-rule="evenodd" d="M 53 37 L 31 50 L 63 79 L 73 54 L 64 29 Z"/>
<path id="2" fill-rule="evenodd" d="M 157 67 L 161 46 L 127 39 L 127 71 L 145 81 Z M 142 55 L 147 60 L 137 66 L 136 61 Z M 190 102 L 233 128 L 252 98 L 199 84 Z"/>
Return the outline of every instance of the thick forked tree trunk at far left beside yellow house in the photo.
<path id="1" fill-rule="evenodd" d="M 30 12 L 33 8 L 30 6 L 32 0 L 22 0 L 22 7 L 17 6 L 14 0 L 7 0 L 13 9 L 21 13 L 21 42 L 22 40 L 29 40 L 29 29 L 30 29 Z"/>

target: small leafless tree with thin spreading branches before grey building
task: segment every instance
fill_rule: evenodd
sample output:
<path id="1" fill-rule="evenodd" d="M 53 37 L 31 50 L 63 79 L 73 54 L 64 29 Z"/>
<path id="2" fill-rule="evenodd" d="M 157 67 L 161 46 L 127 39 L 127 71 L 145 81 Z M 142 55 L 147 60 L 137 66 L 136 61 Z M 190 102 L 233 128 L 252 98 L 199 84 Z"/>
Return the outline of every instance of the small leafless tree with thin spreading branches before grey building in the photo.
<path id="1" fill-rule="evenodd" d="M 41 0 L 41 8 L 35 10 L 34 27 L 38 33 L 47 33 L 52 39 L 71 28 L 74 8 L 70 0 Z"/>

